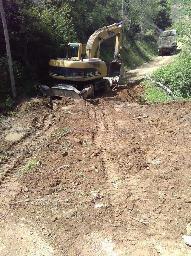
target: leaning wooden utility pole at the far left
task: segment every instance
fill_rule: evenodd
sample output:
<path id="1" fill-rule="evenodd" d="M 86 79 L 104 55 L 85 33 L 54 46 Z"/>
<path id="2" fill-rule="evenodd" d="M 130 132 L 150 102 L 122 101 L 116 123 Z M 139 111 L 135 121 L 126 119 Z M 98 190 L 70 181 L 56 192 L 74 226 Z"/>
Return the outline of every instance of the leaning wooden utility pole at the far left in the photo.
<path id="1" fill-rule="evenodd" d="M 5 19 L 5 13 L 4 13 L 2 0 L 0 0 L 0 12 L 1 12 L 1 19 L 2 19 L 2 23 L 3 23 L 3 29 L 4 29 L 4 35 L 5 35 L 5 43 L 6 43 L 6 48 L 7 48 L 7 61 L 9 64 L 11 89 L 12 89 L 13 99 L 15 99 L 17 96 L 17 93 L 16 93 L 15 79 L 14 79 L 14 74 L 13 74 L 13 64 L 12 64 L 12 58 L 11 58 L 9 35 L 8 35 L 8 31 L 7 31 L 7 23 L 6 23 L 6 19 Z"/>

